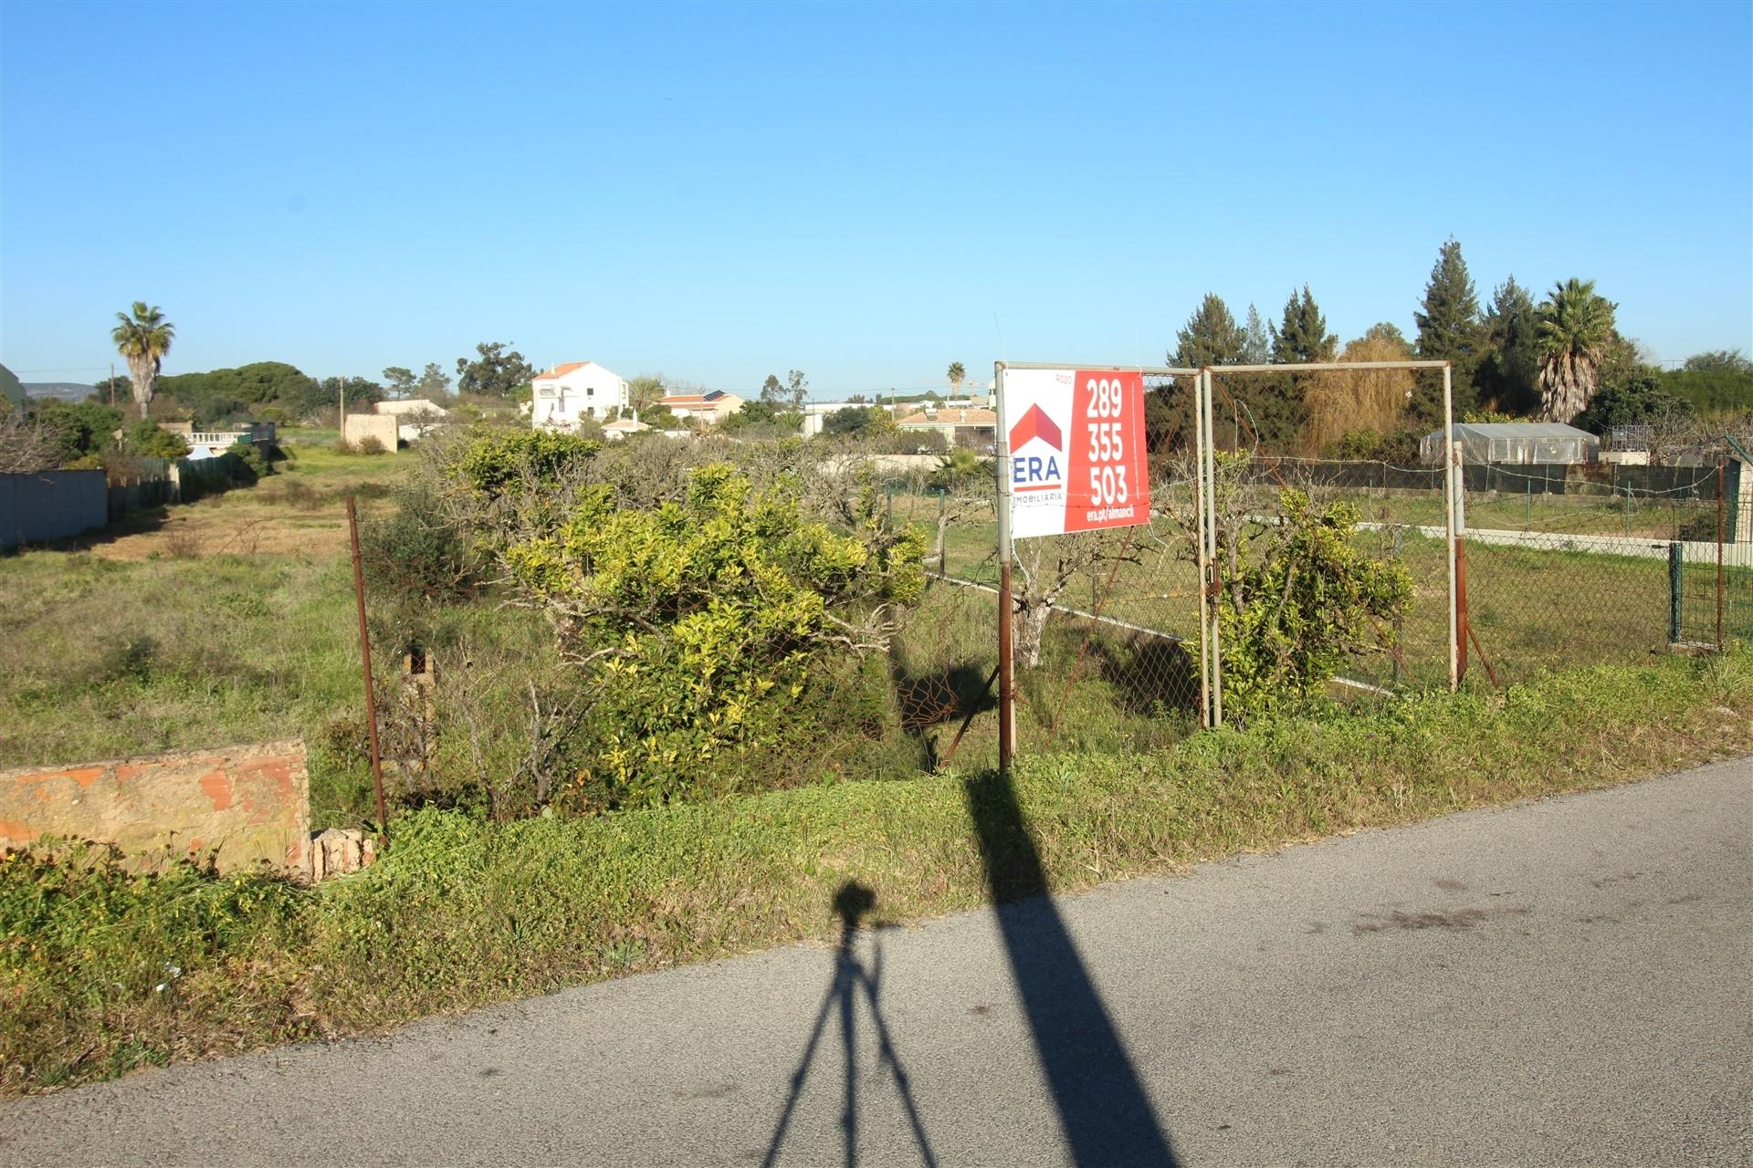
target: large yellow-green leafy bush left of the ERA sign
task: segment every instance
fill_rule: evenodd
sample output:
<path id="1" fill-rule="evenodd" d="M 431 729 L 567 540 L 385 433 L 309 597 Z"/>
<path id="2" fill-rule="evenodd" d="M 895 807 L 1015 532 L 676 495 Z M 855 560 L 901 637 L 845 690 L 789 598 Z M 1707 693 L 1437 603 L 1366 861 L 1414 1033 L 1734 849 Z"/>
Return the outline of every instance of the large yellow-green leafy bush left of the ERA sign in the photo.
<path id="1" fill-rule="evenodd" d="M 796 480 L 756 490 L 726 464 L 652 510 L 582 490 L 556 534 L 503 552 L 596 693 L 575 802 L 664 802 L 743 751 L 813 734 L 834 713 L 808 709 L 812 679 L 887 646 L 892 609 L 924 588 L 920 553 L 873 490 L 850 532 L 808 520 Z"/>

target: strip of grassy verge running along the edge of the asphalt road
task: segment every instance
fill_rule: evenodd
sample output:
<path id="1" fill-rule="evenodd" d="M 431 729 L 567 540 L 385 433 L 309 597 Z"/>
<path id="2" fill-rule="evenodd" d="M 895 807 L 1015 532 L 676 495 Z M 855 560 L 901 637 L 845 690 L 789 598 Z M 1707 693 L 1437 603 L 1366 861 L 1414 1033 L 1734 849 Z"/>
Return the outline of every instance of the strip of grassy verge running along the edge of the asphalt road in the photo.
<path id="1" fill-rule="evenodd" d="M 1015 797 L 1061 891 L 1753 749 L 1753 658 L 1551 674 L 1036 756 Z M 100 856 L 0 862 L 0 1091 L 379 1031 L 831 930 L 847 879 L 891 919 L 985 900 L 992 776 L 805 786 L 598 820 L 424 809 L 373 869 L 298 888 Z"/>

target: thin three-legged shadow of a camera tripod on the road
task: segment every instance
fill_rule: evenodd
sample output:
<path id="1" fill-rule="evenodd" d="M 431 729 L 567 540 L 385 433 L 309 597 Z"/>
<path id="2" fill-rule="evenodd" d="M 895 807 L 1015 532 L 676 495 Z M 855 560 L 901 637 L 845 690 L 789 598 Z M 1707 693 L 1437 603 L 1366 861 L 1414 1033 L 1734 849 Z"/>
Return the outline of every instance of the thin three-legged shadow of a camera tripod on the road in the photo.
<path id="1" fill-rule="evenodd" d="M 827 995 L 822 998 L 822 1009 L 815 1016 L 815 1028 L 810 1031 L 810 1042 L 803 1047 L 803 1059 L 798 1063 L 798 1070 L 791 1077 L 791 1091 L 785 1096 L 785 1108 L 780 1112 L 778 1126 L 773 1129 L 773 1140 L 768 1143 L 766 1157 L 761 1161 L 764 1168 L 778 1163 L 780 1145 L 785 1142 L 785 1131 L 791 1128 L 791 1117 L 798 1108 L 798 1100 L 803 1094 L 803 1082 L 810 1075 L 810 1065 L 815 1061 L 815 1051 L 822 1044 L 822 1035 L 827 1031 L 827 1019 L 834 1014 L 834 1007 L 840 1007 L 840 1040 L 847 1047 L 847 1075 L 845 1075 L 845 1093 L 840 1108 L 840 1133 L 841 1145 L 845 1147 L 847 1168 L 852 1168 L 859 1161 L 859 1075 L 857 1075 L 857 1024 L 854 1019 L 854 1009 L 857 1005 L 859 991 L 864 993 L 864 1000 L 869 1003 L 871 1019 L 876 1023 L 876 1056 L 878 1065 L 887 1066 L 894 1073 L 896 1087 L 901 1091 L 901 1105 L 906 1108 L 906 1119 L 913 1128 L 913 1140 L 919 1143 L 919 1156 L 927 1164 L 927 1168 L 936 1168 L 938 1157 L 931 1150 L 931 1140 L 926 1136 L 926 1126 L 919 1119 L 919 1107 L 913 1101 L 913 1089 L 906 1079 L 906 1068 L 901 1066 L 901 1059 L 894 1052 L 894 1042 L 889 1038 L 889 1026 L 884 1023 L 882 1007 L 876 1003 L 882 993 L 882 946 L 871 958 L 871 968 L 864 968 L 859 961 L 857 953 L 854 953 L 852 944 L 859 932 L 859 921 L 871 911 L 876 904 L 876 895 L 859 884 L 857 881 L 847 881 L 834 893 L 834 914 L 840 916 L 840 946 L 834 949 L 834 979 L 827 986 Z"/>

